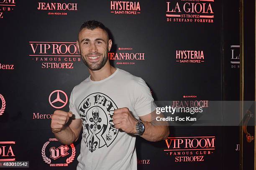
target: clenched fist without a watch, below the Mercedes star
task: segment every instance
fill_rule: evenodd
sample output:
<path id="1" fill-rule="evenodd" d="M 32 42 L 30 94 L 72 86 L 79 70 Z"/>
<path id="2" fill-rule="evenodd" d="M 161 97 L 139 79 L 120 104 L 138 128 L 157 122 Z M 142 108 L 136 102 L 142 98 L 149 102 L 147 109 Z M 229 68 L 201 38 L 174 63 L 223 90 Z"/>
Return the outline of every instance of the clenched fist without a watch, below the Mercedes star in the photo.
<path id="1" fill-rule="evenodd" d="M 69 118 L 72 117 L 72 112 L 55 110 L 51 117 L 51 130 L 53 133 L 58 133 L 67 124 Z"/>

